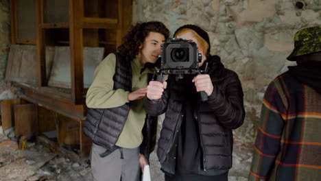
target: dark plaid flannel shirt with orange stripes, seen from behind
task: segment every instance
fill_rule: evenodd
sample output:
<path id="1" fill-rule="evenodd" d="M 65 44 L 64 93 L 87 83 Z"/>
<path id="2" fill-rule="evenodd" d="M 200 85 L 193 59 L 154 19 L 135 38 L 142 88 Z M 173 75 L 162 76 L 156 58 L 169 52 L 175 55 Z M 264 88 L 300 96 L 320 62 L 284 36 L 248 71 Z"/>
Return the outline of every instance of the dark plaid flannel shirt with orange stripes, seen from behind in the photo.
<path id="1" fill-rule="evenodd" d="M 289 73 L 276 77 L 263 99 L 249 180 L 321 180 L 320 139 L 321 95 Z"/>

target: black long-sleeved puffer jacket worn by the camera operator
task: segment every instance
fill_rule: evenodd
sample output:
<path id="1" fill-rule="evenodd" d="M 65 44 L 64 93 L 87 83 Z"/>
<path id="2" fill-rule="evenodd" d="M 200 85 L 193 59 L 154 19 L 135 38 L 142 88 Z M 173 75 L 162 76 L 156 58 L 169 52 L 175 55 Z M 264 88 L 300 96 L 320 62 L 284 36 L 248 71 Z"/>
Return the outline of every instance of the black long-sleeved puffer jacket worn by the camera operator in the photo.
<path id="1" fill-rule="evenodd" d="M 198 101 L 198 110 L 194 119 L 200 127 L 200 145 L 202 164 L 208 169 L 230 169 L 232 167 L 233 133 L 232 130 L 242 125 L 245 111 L 243 91 L 237 74 L 224 68 L 218 56 L 206 60 L 209 64 L 209 75 L 213 82 L 213 93 L 206 102 Z M 204 66 L 203 66 L 204 67 Z M 201 69 L 203 68 L 201 67 Z M 167 89 L 158 101 L 145 97 L 144 107 L 147 114 L 157 116 L 165 114 L 163 128 L 158 140 L 157 155 L 163 171 L 175 173 L 175 161 L 169 151 L 180 130 L 182 119 L 182 101 L 176 99 L 175 78 L 169 76 Z"/>

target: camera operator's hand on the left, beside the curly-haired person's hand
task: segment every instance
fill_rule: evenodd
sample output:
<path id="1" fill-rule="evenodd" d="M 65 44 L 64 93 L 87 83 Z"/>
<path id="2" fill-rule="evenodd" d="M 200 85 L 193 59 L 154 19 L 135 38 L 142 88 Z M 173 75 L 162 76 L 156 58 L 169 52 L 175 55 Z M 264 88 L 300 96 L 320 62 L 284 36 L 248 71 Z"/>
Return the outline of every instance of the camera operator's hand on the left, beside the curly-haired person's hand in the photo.
<path id="1" fill-rule="evenodd" d="M 151 81 L 147 86 L 147 98 L 150 100 L 160 99 L 166 87 L 167 82 Z"/>

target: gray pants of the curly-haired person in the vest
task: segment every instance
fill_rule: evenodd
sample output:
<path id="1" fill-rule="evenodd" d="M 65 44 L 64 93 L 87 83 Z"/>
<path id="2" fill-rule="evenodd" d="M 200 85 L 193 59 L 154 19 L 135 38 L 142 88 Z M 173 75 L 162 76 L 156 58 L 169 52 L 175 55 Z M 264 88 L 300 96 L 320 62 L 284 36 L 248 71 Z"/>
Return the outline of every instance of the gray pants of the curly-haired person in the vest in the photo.
<path id="1" fill-rule="evenodd" d="M 121 149 L 123 159 L 121 159 Z M 104 147 L 91 146 L 91 171 L 94 181 L 138 181 L 140 180 L 139 147 L 119 148 L 102 158 Z"/>

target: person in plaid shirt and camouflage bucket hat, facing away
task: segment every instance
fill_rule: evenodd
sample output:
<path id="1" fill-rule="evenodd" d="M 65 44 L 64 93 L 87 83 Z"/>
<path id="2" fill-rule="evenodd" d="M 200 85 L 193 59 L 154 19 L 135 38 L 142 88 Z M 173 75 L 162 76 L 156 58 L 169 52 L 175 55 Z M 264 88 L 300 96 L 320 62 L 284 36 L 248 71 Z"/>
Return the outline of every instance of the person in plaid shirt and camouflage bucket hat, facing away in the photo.
<path id="1" fill-rule="evenodd" d="M 321 180 L 321 27 L 301 29 L 297 66 L 265 91 L 248 180 Z"/>

